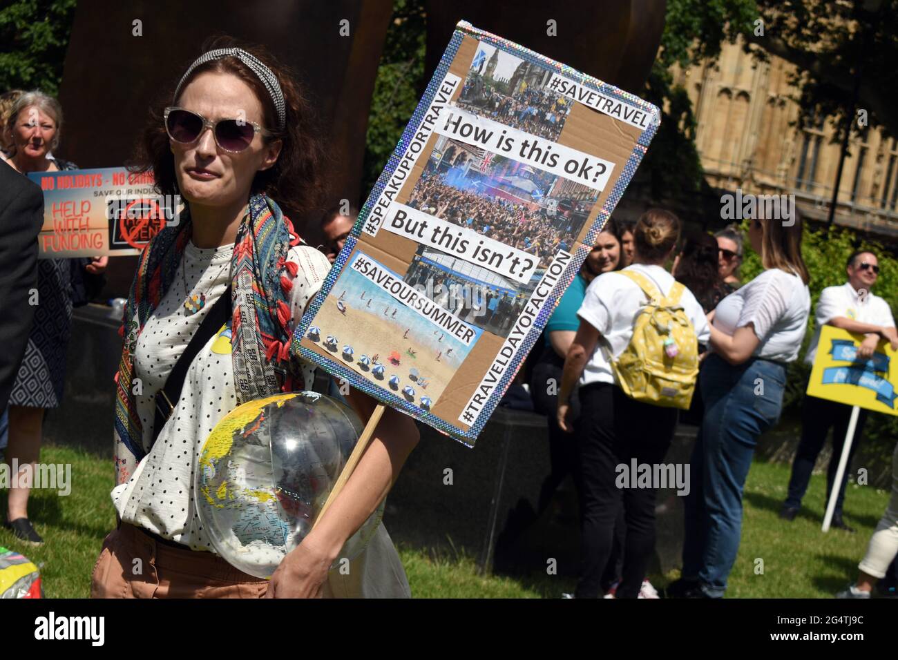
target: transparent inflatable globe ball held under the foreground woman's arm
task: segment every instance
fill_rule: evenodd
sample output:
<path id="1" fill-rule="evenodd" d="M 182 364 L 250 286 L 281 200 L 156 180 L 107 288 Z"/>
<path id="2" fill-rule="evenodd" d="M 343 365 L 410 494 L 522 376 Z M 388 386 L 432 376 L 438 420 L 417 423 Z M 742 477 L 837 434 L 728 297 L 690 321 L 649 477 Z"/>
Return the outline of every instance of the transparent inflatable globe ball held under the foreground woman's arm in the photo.
<path id="1" fill-rule="evenodd" d="M 222 418 L 194 478 L 199 520 L 216 552 L 270 577 L 312 529 L 362 429 L 352 409 L 316 392 L 248 401 Z M 365 549 L 382 516 L 383 502 L 334 567 Z"/>

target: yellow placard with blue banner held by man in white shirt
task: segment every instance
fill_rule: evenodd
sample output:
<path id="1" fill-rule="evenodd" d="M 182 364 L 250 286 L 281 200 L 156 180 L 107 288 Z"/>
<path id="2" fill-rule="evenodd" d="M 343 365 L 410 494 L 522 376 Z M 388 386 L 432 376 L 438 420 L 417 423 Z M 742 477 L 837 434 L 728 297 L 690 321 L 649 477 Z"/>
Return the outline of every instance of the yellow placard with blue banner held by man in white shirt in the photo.
<path id="1" fill-rule="evenodd" d="M 896 353 L 883 339 L 872 358 L 859 360 L 858 347 L 863 339 L 862 335 L 824 325 L 807 393 L 819 399 L 898 415 Z"/>

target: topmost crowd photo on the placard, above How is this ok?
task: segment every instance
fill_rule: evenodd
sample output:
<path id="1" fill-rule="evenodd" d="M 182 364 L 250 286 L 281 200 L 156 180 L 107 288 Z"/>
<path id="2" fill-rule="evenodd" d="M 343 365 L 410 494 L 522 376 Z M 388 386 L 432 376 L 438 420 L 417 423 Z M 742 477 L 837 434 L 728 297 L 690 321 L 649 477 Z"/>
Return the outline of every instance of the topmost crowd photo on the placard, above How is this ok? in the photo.
<path id="1" fill-rule="evenodd" d="M 456 105 L 534 136 L 558 140 L 572 102 L 548 84 L 551 72 L 480 43 Z"/>

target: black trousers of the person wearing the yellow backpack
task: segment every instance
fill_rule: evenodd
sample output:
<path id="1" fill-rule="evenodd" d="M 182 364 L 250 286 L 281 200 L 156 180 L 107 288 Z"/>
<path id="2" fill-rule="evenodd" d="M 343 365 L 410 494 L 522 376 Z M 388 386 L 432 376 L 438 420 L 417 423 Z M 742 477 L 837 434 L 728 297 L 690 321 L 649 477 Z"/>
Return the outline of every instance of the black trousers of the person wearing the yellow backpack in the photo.
<path id="1" fill-rule="evenodd" d="M 656 488 L 618 488 L 618 465 L 656 465 L 674 439 L 677 410 L 629 399 L 611 383 L 580 388 L 575 428 L 580 458 L 582 557 L 577 598 L 595 598 L 614 545 L 621 507 L 626 521 L 618 598 L 636 598 L 655 550 Z"/>

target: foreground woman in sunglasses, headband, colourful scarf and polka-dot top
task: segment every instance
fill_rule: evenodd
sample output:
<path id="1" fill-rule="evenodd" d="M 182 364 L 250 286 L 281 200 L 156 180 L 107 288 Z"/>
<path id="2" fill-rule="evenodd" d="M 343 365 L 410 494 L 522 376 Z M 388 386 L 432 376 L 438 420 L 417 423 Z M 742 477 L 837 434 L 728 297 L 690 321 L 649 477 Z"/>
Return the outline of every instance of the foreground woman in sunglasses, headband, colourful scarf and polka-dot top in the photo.
<path id="1" fill-rule="evenodd" d="M 270 581 L 219 557 L 194 505 L 199 455 L 219 420 L 313 384 L 314 366 L 291 353 L 290 339 L 330 262 L 279 206 L 318 208 L 323 152 L 312 117 L 284 66 L 230 38 L 209 43 L 151 112 L 134 169 L 152 168 L 159 191 L 180 194 L 185 207 L 140 255 L 124 313 L 111 494 L 120 524 L 103 541 L 93 597 L 410 595 L 383 524 L 348 571 L 329 570 L 418 443 L 414 422 L 396 410 L 383 413 L 345 488 Z M 180 394 L 161 401 L 210 308 L 224 310 L 226 329 L 216 322 L 221 330 L 173 383 Z M 356 390 L 347 400 L 364 424 L 376 402 Z"/>

